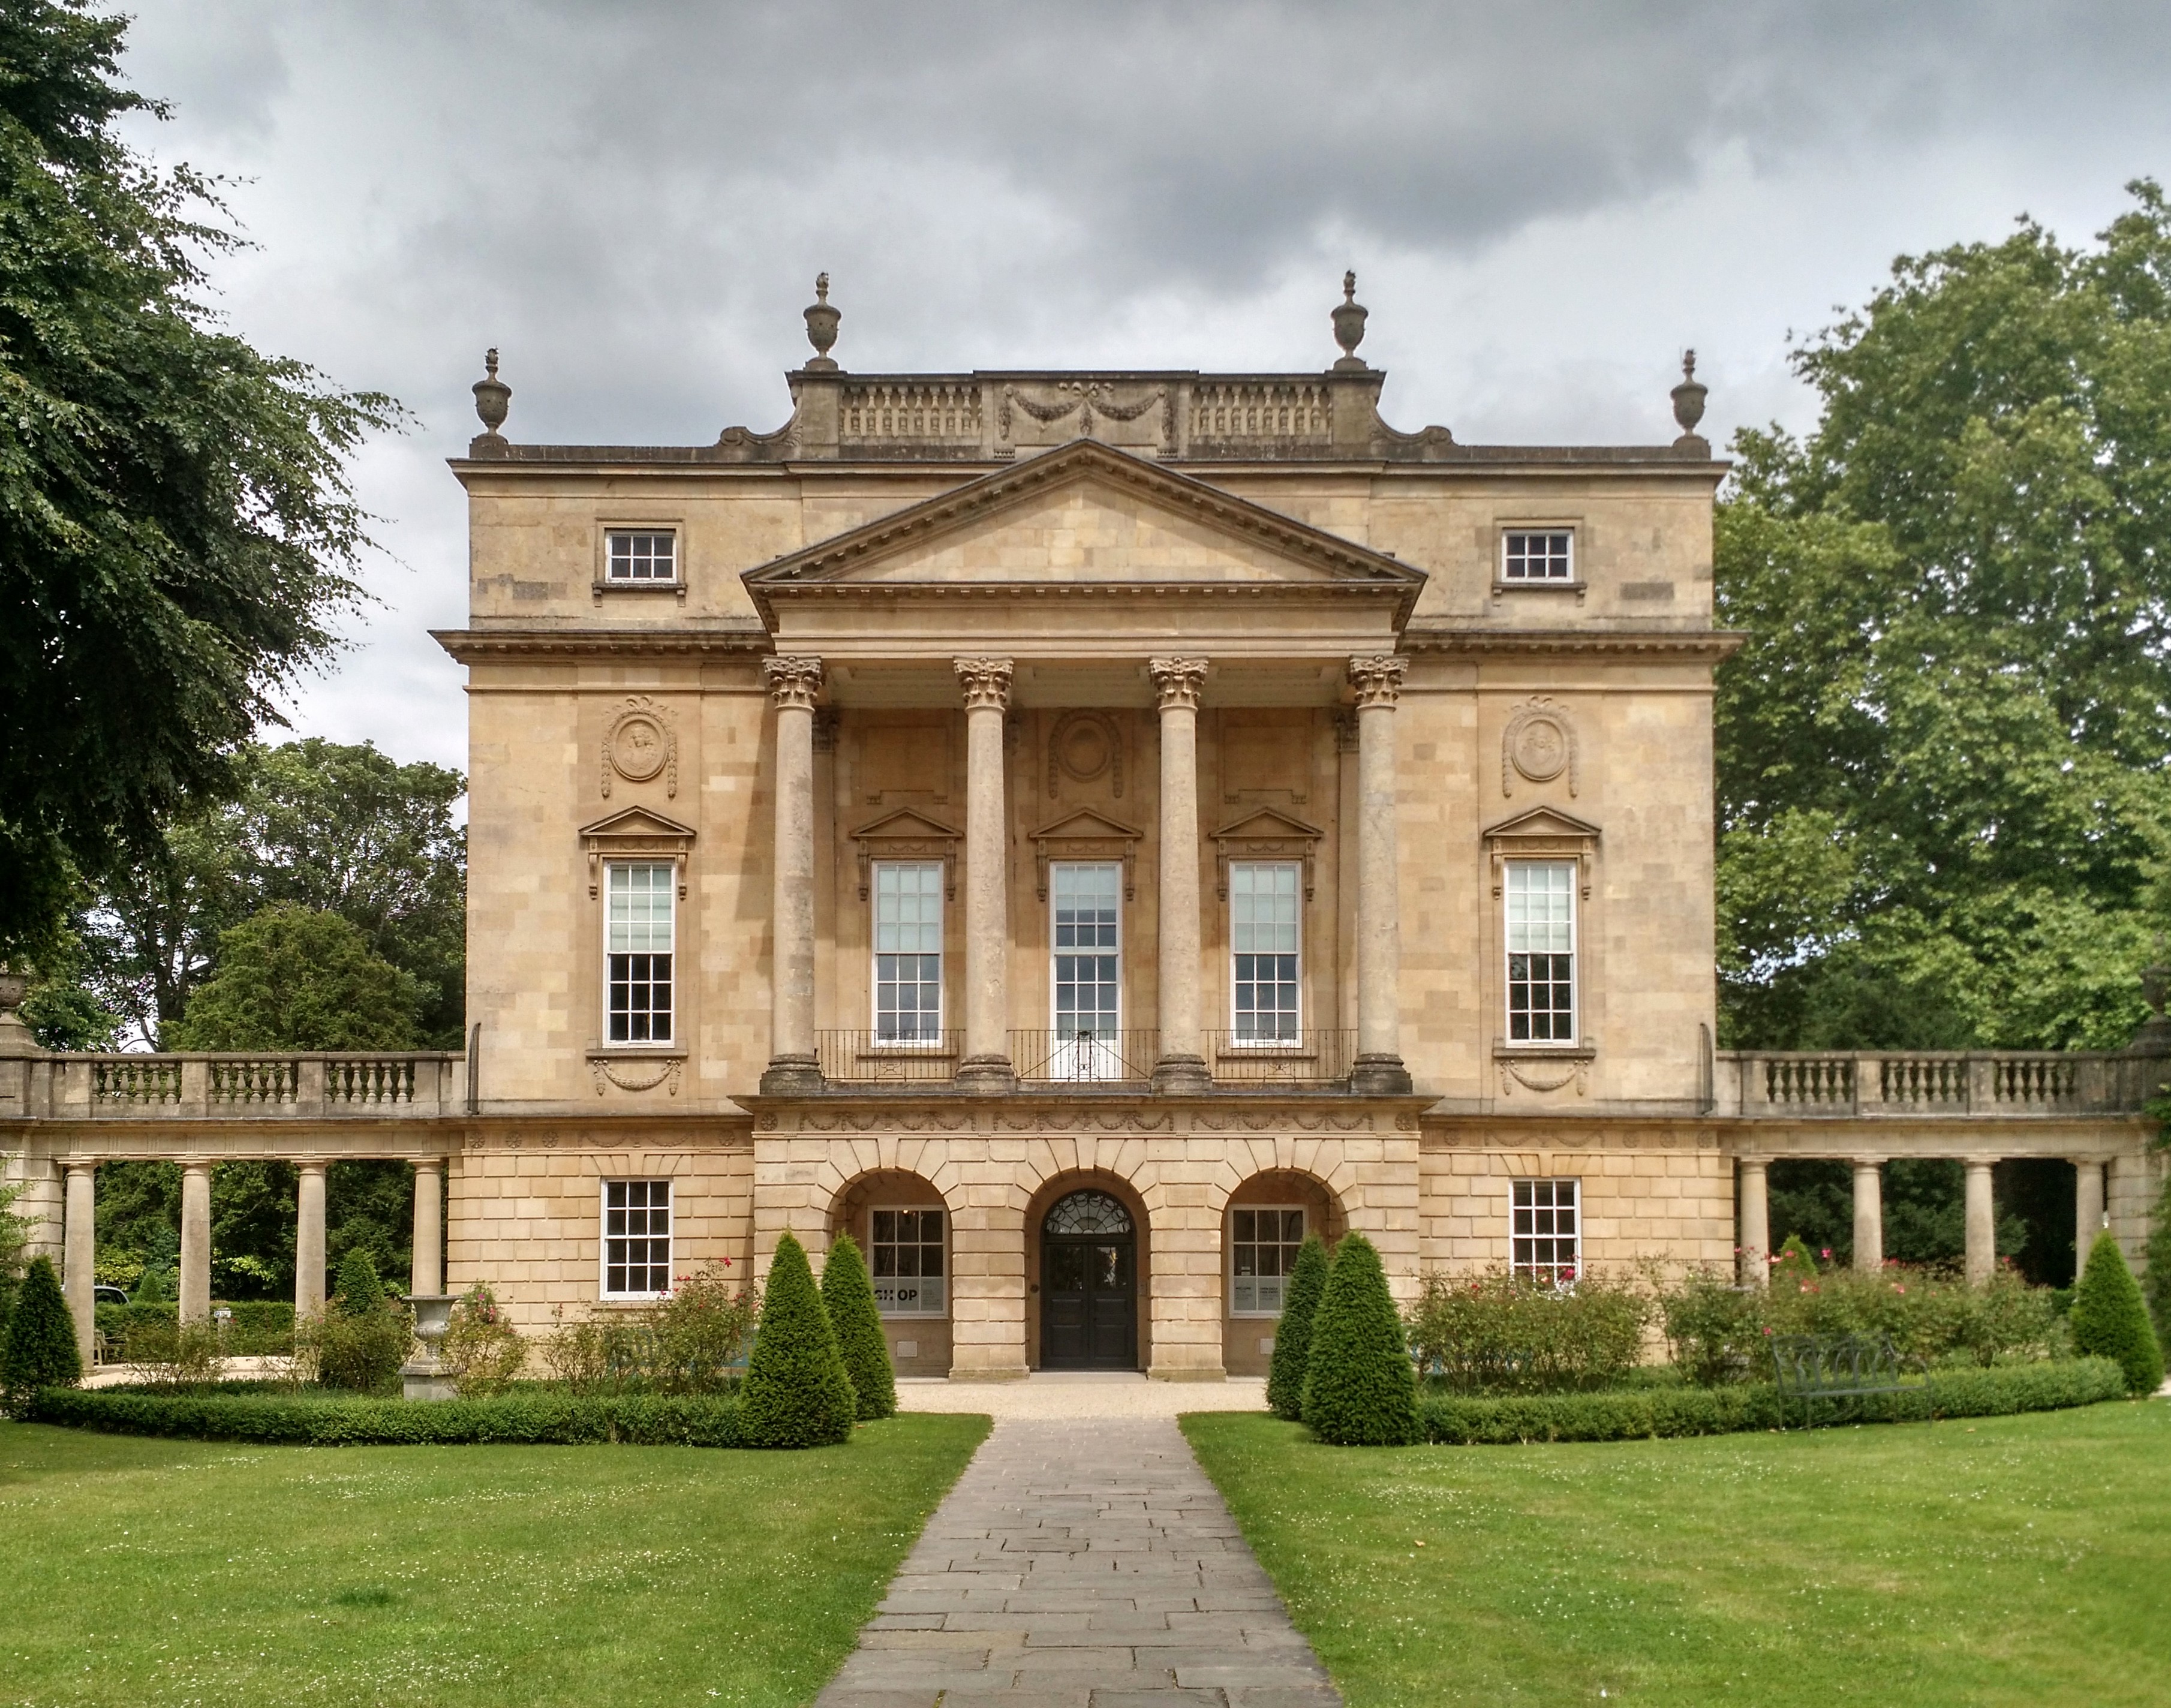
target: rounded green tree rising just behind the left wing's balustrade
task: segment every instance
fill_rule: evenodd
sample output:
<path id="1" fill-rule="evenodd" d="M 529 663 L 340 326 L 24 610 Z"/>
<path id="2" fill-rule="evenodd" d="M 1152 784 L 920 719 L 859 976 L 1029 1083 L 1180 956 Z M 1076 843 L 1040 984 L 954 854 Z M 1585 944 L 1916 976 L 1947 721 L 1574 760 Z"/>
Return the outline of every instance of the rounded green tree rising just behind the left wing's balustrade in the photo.
<path id="1" fill-rule="evenodd" d="M 406 1050 L 412 977 L 339 918 L 271 903 L 219 938 L 219 970 L 163 1029 L 178 1050 Z"/>

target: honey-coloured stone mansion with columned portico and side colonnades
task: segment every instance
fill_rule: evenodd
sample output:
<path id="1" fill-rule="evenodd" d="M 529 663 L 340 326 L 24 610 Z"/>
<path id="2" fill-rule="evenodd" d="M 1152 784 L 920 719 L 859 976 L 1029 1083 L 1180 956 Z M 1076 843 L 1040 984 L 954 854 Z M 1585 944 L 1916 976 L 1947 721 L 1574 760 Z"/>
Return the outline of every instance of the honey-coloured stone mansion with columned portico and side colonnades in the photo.
<path id="1" fill-rule="evenodd" d="M 98 1157 L 441 1163 L 417 1289 L 530 1328 L 849 1228 L 899 1369 L 960 1378 L 1259 1372 L 1313 1231 L 1402 1296 L 1761 1276 L 1787 1155 L 1858 1161 L 1871 1261 L 1891 1155 L 1982 1163 L 1978 1270 L 2004 1155 L 2093 1170 L 2138 1257 L 2151 1055 L 1713 1050 L 1693 365 L 1672 441 L 1461 445 L 1387 425 L 1350 291 L 1333 330 L 1316 373 L 860 375 L 823 291 L 786 425 L 699 447 L 508 441 L 493 352 L 439 636 L 469 1050 L 384 1096 L 24 1059 L 0 1144 L 69 1228 Z"/>

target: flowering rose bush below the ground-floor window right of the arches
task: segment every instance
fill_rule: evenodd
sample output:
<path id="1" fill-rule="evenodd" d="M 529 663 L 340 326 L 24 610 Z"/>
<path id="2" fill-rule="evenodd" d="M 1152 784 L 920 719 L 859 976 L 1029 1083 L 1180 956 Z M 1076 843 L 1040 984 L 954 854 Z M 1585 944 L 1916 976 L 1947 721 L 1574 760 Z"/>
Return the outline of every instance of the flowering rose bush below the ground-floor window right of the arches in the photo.
<path id="1" fill-rule="evenodd" d="M 1409 1315 L 1418 1369 L 1455 1393 L 1615 1387 L 1643 1352 L 1650 1298 L 1585 1272 L 1552 1287 L 1505 1270 L 1424 1278 Z"/>

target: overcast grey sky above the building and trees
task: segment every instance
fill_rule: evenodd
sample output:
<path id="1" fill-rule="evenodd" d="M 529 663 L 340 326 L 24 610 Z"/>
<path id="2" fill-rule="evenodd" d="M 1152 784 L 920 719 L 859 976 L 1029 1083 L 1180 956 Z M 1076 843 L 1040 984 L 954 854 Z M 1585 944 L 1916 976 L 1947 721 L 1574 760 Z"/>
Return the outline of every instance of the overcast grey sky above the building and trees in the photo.
<path id="1" fill-rule="evenodd" d="M 293 727 L 465 766 L 465 506 L 510 438 L 788 412 L 847 369 L 1320 369 L 1355 267 L 1383 412 L 1465 443 L 1808 425 L 1789 334 L 1893 254 L 2067 241 L 2171 176 L 2158 4 L 156 0 L 130 137 L 237 180 L 232 328 L 417 417 L 356 467 L 378 603 Z"/>

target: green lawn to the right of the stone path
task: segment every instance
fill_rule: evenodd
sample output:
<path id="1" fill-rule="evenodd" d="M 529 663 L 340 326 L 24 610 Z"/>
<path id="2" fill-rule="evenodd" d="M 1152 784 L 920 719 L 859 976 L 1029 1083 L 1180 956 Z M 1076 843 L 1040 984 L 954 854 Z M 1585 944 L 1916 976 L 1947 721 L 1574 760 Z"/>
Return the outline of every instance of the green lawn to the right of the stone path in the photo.
<path id="1" fill-rule="evenodd" d="M 1554 1448 L 1183 1419 L 1350 1708 L 2171 1701 L 2171 1404 Z"/>

